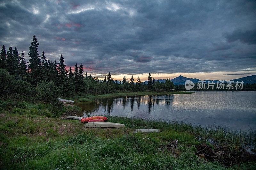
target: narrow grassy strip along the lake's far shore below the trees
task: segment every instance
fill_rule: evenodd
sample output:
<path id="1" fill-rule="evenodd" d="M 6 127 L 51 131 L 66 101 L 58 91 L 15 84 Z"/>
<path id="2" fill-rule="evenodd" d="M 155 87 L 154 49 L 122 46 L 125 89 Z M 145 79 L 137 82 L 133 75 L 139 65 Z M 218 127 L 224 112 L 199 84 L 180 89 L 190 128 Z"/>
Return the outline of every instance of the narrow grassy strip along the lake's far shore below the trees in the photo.
<path id="1" fill-rule="evenodd" d="M 142 96 L 142 95 L 167 95 L 167 94 L 191 94 L 194 92 L 119 92 L 112 94 L 101 94 L 101 95 L 80 95 L 70 97 L 70 100 L 75 102 L 91 102 L 93 99 L 104 99 L 110 97 L 122 97 L 122 96 Z"/>

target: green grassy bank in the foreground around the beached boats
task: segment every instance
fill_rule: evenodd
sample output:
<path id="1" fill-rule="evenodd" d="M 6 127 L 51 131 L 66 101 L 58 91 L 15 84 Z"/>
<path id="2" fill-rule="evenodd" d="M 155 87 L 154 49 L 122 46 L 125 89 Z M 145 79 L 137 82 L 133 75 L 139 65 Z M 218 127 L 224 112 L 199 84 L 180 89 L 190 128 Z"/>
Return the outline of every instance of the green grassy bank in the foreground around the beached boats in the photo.
<path id="1" fill-rule="evenodd" d="M 220 162 L 195 155 L 206 142 L 196 138 L 204 129 L 164 121 L 108 116 L 125 129 L 84 128 L 76 120 L 32 114 L 0 114 L 1 169 L 226 169 Z M 157 128 L 160 133 L 133 134 L 137 128 Z M 215 137 L 233 150 L 239 137 Z M 220 140 L 223 138 L 222 140 Z M 178 148 L 160 148 L 178 139 Z M 227 140 L 229 139 L 229 140 Z M 253 169 L 255 162 L 233 164 L 229 169 Z"/>

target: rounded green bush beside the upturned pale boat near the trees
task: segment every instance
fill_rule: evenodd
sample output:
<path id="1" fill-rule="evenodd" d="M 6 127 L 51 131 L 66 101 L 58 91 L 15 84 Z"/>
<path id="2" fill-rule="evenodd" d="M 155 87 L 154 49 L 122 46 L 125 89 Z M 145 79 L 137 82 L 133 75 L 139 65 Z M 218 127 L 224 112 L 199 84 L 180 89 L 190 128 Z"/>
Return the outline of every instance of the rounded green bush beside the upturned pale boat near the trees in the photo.
<path id="1" fill-rule="evenodd" d="M 60 96 L 62 91 L 62 86 L 55 85 L 52 80 L 49 82 L 41 80 L 37 83 L 36 88 L 38 89 L 39 100 L 51 103 L 55 103 L 56 98 Z"/>

